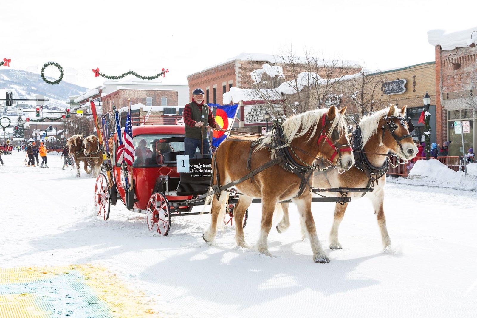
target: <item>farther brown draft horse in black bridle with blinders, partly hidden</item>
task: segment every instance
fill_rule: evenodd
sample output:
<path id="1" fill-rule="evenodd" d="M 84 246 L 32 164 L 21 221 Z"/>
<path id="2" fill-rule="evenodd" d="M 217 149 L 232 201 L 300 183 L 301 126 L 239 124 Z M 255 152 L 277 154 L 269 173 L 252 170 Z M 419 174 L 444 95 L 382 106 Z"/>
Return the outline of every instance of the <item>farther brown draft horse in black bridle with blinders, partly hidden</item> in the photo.
<path id="1" fill-rule="evenodd" d="M 355 167 L 340 174 L 336 170 L 326 170 L 323 172 L 315 172 L 313 176 L 313 186 L 316 188 L 365 188 L 369 187 L 373 182 L 373 192 L 350 192 L 349 196 L 352 201 L 361 197 L 368 198 L 376 214 L 379 228 L 381 230 L 381 239 L 385 253 L 393 253 L 391 248 L 391 239 L 386 227 L 386 218 L 384 216 L 384 185 L 386 183 L 387 157 L 379 154 L 387 154 L 388 152 L 397 153 L 404 159 L 413 159 L 417 154 L 417 148 L 409 134 L 414 126 L 405 123 L 406 107 L 399 110 L 394 105 L 383 110 L 377 111 L 370 116 L 365 116 L 360 121 L 358 130 L 353 133 L 353 150 L 355 156 Z M 359 153 L 356 150 L 362 150 Z M 366 161 L 367 160 L 367 161 Z M 368 171 L 368 173 L 366 172 Z M 382 178 L 380 178 L 382 177 Z M 364 193 L 364 195 L 363 195 Z M 334 195 L 334 193 L 330 193 Z M 288 216 L 288 203 L 281 203 L 283 209 L 283 218 L 277 225 L 279 233 L 285 232 L 290 226 Z M 343 219 L 344 212 L 348 203 L 336 203 L 334 209 L 334 222 L 330 232 L 330 248 L 341 249 L 342 246 L 338 241 L 338 227 Z M 300 221 L 302 219 L 300 218 Z M 301 222 L 302 239 L 304 238 L 305 227 Z"/>

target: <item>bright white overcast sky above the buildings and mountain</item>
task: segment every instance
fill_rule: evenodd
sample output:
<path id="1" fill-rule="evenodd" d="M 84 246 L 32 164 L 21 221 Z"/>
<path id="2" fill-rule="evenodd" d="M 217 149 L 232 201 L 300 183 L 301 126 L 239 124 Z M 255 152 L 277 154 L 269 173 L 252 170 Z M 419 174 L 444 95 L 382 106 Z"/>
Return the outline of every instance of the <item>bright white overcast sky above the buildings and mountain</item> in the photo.
<path id="1" fill-rule="evenodd" d="M 165 67 L 163 83 L 187 84 L 187 75 L 239 53 L 276 55 L 290 47 L 371 69 L 431 62 L 427 31 L 477 30 L 470 0 L 322 2 L 8 1 L 0 13 L 0 61 L 37 73 L 53 61 L 65 68 L 64 80 L 88 88 L 104 81 L 94 77 L 96 67 L 115 76 L 151 76 Z M 58 76 L 52 66 L 45 74 Z"/>

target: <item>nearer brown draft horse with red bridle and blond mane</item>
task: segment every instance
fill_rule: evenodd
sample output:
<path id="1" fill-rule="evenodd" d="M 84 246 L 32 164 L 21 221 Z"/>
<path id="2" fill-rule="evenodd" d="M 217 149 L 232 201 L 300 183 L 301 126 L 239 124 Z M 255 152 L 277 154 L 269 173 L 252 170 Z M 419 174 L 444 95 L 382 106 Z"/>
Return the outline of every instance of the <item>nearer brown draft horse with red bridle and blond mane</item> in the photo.
<path id="1" fill-rule="evenodd" d="M 282 139 L 286 142 L 281 145 L 282 149 L 280 150 L 290 149 L 287 151 L 293 153 L 291 157 L 294 162 L 300 161 L 301 166 L 310 169 L 310 174 L 313 171 L 311 165 L 317 156 L 329 159 L 333 165 L 342 170 L 350 169 L 354 164 L 354 159 L 349 145 L 347 126 L 342 116 L 345 110 L 346 108 L 343 108 L 337 113 L 336 108 L 331 106 L 329 109 L 312 110 L 290 117 L 282 123 Z M 265 138 L 257 139 L 256 136 L 239 135 L 228 137 L 220 144 L 213 157 L 212 180 L 214 185 L 228 185 L 228 183 L 248 175 L 251 170 L 264 167 L 277 157 L 282 158 L 279 155 L 279 150 L 267 146 L 274 141 L 278 142 L 278 138 L 269 134 Z M 253 149 L 253 152 L 254 144 L 252 142 L 257 144 L 257 148 Z M 250 165 L 247 167 L 250 155 Z M 287 160 L 286 162 L 288 165 L 291 161 Z M 255 174 L 253 178 L 233 186 L 241 193 L 234 210 L 235 241 L 241 247 L 250 248 L 245 241 L 242 221 L 252 199 L 261 198 L 262 221 L 257 250 L 259 253 L 271 256 L 267 240 L 275 205 L 277 202 L 291 199 L 298 205 L 303 222 L 306 224 L 313 261 L 328 263 L 330 260 L 321 248 L 311 215 L 311 192 L 308 191 L 308 182 L 304 182 L 303 177 L 290 172 L 290 169 L 286 170 L 286 168 L 281 164 L 272 165 Z M 310 183 L 312 184 L 312 180 Z M 217 222 L 222 222 L 219 214 L 225 211 L 227 198 L 228 192 L 225 190 L 220 192 L 217 200 L 215 197 L 213 198 L 211 224 L 202 236 L 206 242 L 213 243 L 215 240 Z"/>

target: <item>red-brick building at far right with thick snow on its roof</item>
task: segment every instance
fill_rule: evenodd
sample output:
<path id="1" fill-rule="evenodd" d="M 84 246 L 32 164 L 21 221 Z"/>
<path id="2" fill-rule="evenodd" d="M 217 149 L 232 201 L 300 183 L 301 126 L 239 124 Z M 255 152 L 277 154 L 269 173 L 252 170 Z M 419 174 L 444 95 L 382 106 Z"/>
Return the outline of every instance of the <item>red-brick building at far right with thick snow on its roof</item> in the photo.
<path id="1" fill-rule="evenodd" d="M 436 100 L 437 140 L 439 143 L 451 140 L 449 156 L 467 153 L 468 148 L 476 146 L 477 100 L 477 28 L 461 32 L 445 33 L 442 30 L 428 32 L 428 42 L 436 47 Z M 473 44 L 473 45 L 472 45 Z M 472 45 L 472 46 L 469 46 Z M 469 121 L 470 132 L 464 135 L 462 147 L 461 134 L 454 133 L 455 121 Z"/>

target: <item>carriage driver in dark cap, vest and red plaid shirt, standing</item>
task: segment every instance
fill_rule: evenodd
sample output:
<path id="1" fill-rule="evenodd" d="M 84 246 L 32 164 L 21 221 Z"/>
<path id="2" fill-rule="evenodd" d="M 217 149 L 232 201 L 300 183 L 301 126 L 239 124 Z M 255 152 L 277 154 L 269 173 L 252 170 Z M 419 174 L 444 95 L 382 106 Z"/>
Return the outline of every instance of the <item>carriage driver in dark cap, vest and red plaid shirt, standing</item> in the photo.
<path id="1" fill-rule="evenodd" d="M 184 107 L 184 123 L 186 138 L 184 138 L 184 155 L 193 158 L 197 148 L 201 154 L 210 155 L 208 140 L 209 127 L 222 129 L 212 115 L 212 110 L 204 104 L 204 91 L 197 88 L 192 92 L 192 101 Z"/>

